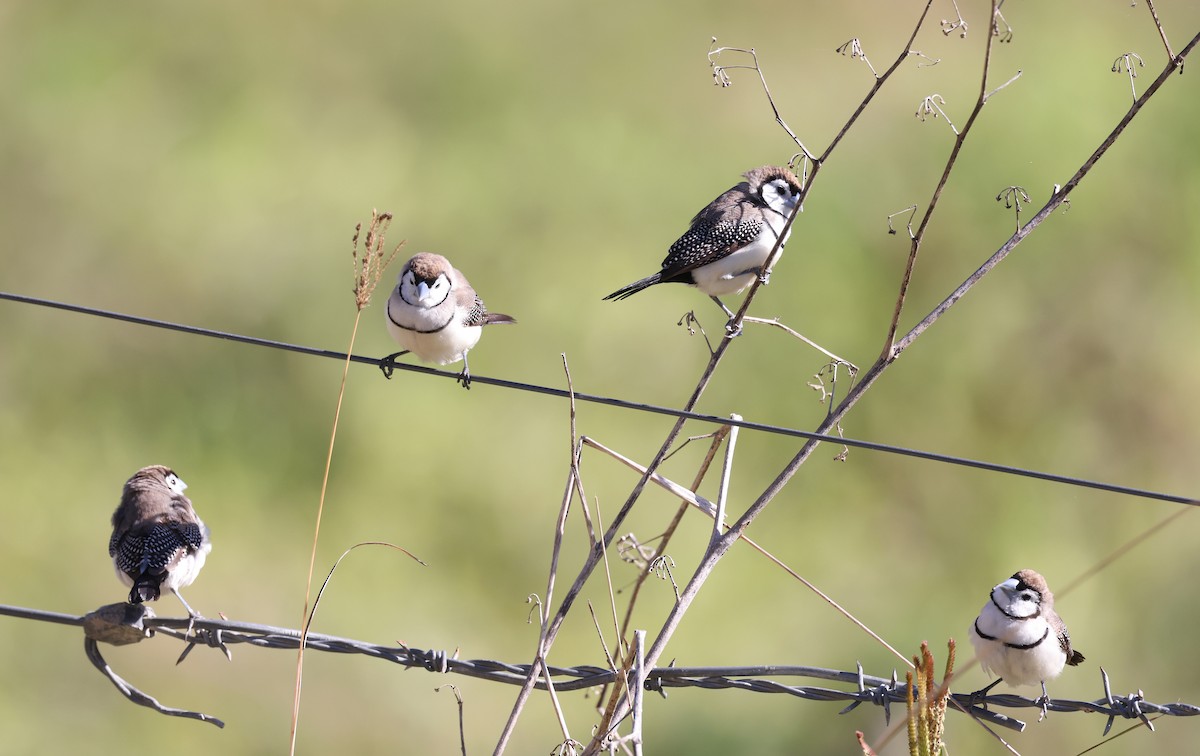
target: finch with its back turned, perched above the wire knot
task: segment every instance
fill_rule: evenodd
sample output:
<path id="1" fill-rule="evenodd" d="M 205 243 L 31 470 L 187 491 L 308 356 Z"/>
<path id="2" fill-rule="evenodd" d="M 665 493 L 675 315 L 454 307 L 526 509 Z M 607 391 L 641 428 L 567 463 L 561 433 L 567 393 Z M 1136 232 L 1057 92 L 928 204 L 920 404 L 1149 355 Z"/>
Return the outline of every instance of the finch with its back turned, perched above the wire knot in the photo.
<path id="1" fill-rule="evenodd" d="M 208 527 L 184 496 L 186 487 L 162 464 L 144 467 L 125 481 L 113 512 L 108 556 L 116 577 L 130 587 L 130 604 L 157 601 L 166 588 L 196 619 L 199 614 L 179 590 L 200 574 L 212 544 Z"/>

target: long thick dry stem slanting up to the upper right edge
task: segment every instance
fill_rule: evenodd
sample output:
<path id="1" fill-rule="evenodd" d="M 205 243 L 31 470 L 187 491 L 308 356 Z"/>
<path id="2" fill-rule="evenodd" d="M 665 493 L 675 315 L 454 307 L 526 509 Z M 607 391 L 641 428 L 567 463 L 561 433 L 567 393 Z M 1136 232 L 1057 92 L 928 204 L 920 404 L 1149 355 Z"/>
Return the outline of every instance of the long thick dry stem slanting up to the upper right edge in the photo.
<path id="1" fill-rule="evenodd" d="M 1146 92 L 1142 94 L 1142 96 L 1134 102 L 1133 107 L 1129 109 L 1129 113 L 1127 113 L 1124 118 L 1121 119 L 1121 121 L 1112 130 L 1112 132 L 1104 139 L 1104 142 L 1096 149 L 1096 151 L 1092 152 L 1091 156 L 1088 156 L 1088 158 L 1079 168 L 1075 175 L 1073 175 L 1070 180 L 1068 180 L 1067 184 L 1063 185 L 1063 187 L 1057 193 L 1055 193 L 1054 197 L 1050 198 L 1046 205 L 1042 210 L 1039 210 L 1037 215 L 1030 218 L 1024 227 L 1021 227 L 1015 234 L 1013 234 L 1013 236 L 1010 236 L 1000 247 L 1000 250 L 997 250 L 990 258 L 988 258 L 988 260 L 979 268 L 979 270 L 977 270 L 966 281 L 964 281 L 962 284 L 960 284 L 949 296 L 947 296 L 941 304 L 938 304 L 932 312 L 925 316 L 925 318 L 923 318 L 917 325 L 914 325 L 912 330 L 905 334 L 902 338 L 896 341 L 895 344 L 889 350 L 882 354 L 880 359 L 876 360 L 876 362 L 871 365 L 870 368 L 868 368 L 868 371 L 860 379 L 859 384 L 853 389 L 851 389 L 846 398 L 844 398 L 841 403 L 836 408 L 834 408 L 833 412 L 821 422 L 821 425 L 818 426 L 820 433 L 828 433 L 830 430 L 833 430 L 836 426 L 836 424 L 840 422 L 841 419 L 846 415 L 846 413 L 848 413 L 850 409 L 853 408 L 856 403 L 858 403 L 858 400 L 862 398 L 863 394 L 870 390 L 870 388 L 875 384 L 876 379 L 878 379 L 878 377 L 883 373 L 883 371 L 887 370 L 887 367 L 892 365 L 892 362 L 894 362 L 895 359 L 899 358 L 905 349 L 907 349 L 922 334 L 924 334 L 929 329 L 929 326 L 936 323 L 937 319 L 941 318 L 942 314 L 944 314 L 950 307 L 953 307 L 955 302 L 958 302 L 964 295 L 966 295 L 966 293 L 970 292 L 989 271 L 991 271 L 996 265 L 998 265 L 1001 260 L 1008 257 L 1009 252 L 1012 252 L 1013 248 L 1016 247 L 1016 245 L 1019 245 L 1030 233 L 1032 233 L 1038 226 L 1040 226 L 1042 222 L 1045 221 L 1050 216 L 1050 214 L 1054 212 L 1067 199 L 1067 197 L 1070 194 L 1072 191 L 1074 191 L 1074 188 L 1079 185 L 1079 182 L 1084 179 L 1084 176 L 1086 176 L 1087 173 L 1091 172 L 1096 162 L 1104 156 L 1104 154 L 1109 150 L 1109 148 L 1112 146 L 1112 144 L 1117 140 L 1121 133 L 1124 132 L 1126 127 L 1134 119 L 1134 116 L 1136 116 L 1136 114 L 1141 110 L 1141 108 L 1145 107 L 1146 102 L 1166 82 L 1168 77 L 1170 77 L 1171 73 L 1174 73 L 1177 70 L 1177 67 L 1182 65 L 1183 60 L 1192 52 L 1192 49 L 1195 48 L 1198 43 L 1200 43 L 1200 34 L 1196 34 L 1196 36 L 1194 36 L 1188 42 L 1187 47 L 1184 47 L 1183 50 L 1174 60 L 1170 61 L 1166 68 L 1164 68 L 1164 71 L 1158 76 L 1158 78 L 1154 79 L 1153 84 L 1150 85 Z M 758 514 L 763 510 L 763 508 L 766 508 L 767 504 L 769 504 L 772 499 L 774 499 L 779 494 L 779 492 L 784 488 L 784 486 L 787 485 L 787 482 L 792 479 L 792 476 L 800 468 L 800 466 L 804 464 L 804 462 L 809 458 L 809 456 L 811 456 L 811 454 L 816 450 L 817 444 L 818 442 L 811 442 L 811 440 L 805 443 L 804 446 L 800 448 L 800 451 L 792 458 L 791 462 L 788 462 L 788 464 L 784 468 L 784 470 L 779 473 L 775 480 L 772 481 L 772 484 L 767 487 L 767 490 L 763 491 L 763 493 L 754 502 L 754 504 L 750 505 L 749 509 L 746 509 L 745 514 L 742 517 L 739 517 L 737 522 L 733 523 L 733 526 L 728 529 L 728 532 L 726 532 L 725 535 L 720 540 L 718 540 L 712 548 L 708 550 L 708 552 L 701 560 L 700 566 L 696 569 L 696 572 L 692 575 L 691 580 L 680 592 L 679 600 L 676 602 L 671 613 L 667 616 L 667 619 L 664 623 L 662 629 L 659 631 L 658 637 L 655 637 L 654 643 L 647 652 L 646 654 L 647 666 L 653 667 L 658 664 L 659 658 L 666 649 L 666 643 L 670 641 L 671 636 L 678 629 L 679 622 L 683 619 L 683 614 L 688 611 L 688 607 L 691 606 L 691 602 L 698 594 L 701 586 L 703 586 L 704 581 L 708 578 L 708 575 L 716 566 L 716 563 L 720 562 L 721 557 L 725 556 L 725 552 L 730 550 L 733 542 L 738 538 L 740 538 L 742 533 L 750 526 L 754 518 L 758 516 Z M 618 720 L 623 718 L 624 713 L 619 714 L 622 716 L 618 716 Z M 595 745 L 595 742 L 593 742 L 593 745 Z M 589 746 L 589 752 L 595 752 L 595 751 L 592 750 Z"/>

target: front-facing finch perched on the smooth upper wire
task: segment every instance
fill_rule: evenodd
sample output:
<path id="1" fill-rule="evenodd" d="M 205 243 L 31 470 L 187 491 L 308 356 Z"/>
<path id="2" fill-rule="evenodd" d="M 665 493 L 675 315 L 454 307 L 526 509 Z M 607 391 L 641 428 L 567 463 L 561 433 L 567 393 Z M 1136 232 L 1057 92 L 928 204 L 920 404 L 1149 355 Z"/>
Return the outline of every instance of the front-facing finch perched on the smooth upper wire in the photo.
<path id="1" fill-rule="evenodd" d="M 421 252 L 404 263 L 396 288 L 388 298 L 388 332 L 404 348 L 379 367 L 391 378 L 396 358 L 409 352 L 426 362 L 449 365 L 462 360 L 458 383 L 470 388 L 467 353 L 479 343 L 485 325 L 516 323 L 506 314 L 488 312 L 467 276 L 440 254 Z"/>

